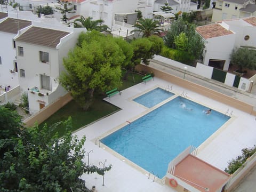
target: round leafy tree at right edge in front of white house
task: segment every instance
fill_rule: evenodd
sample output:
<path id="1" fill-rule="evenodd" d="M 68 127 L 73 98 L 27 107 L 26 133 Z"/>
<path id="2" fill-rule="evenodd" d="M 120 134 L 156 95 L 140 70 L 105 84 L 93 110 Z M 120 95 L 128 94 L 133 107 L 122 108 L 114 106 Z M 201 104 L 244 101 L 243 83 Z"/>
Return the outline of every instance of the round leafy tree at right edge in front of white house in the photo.
<path id="1" fill-rule="evenodd" d="M 246 47 L 233 49 L 230 63 L 237 65 L 240 73 L 243 73 L 243 68 L 256 69 L 256 51 Z"/>

